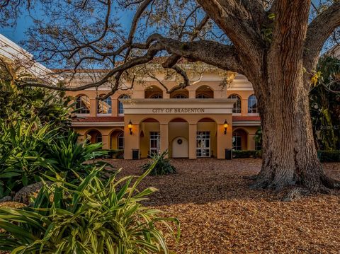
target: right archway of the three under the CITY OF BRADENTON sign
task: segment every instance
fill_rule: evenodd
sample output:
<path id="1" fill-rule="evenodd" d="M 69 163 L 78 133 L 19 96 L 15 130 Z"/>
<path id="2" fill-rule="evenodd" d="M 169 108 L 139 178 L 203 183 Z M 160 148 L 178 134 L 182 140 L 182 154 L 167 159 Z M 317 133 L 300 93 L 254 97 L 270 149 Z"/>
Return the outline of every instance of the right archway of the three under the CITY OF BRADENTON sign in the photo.
<path id="1" fill-rule="evenodd" d="M 197 123 L 197 158 L 217 156 L 217 125 L 211 118 L 203 118 Z"/>

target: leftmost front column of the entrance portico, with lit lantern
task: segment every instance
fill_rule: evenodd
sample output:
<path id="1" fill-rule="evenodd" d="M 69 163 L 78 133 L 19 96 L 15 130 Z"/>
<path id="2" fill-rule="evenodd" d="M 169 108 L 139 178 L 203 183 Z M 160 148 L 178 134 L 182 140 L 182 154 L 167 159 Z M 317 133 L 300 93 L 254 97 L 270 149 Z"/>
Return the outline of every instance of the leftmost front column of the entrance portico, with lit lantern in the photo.
<path id="1" fill-rule="evenodd" d="M 130 134 L 130 129 L 128 124 L 130 119 L 125 117 L 124 121 L 124 158 L 132 159 L 132 149 L 140 149 L 140 123 L 132 122 L 132 134 Z"/>

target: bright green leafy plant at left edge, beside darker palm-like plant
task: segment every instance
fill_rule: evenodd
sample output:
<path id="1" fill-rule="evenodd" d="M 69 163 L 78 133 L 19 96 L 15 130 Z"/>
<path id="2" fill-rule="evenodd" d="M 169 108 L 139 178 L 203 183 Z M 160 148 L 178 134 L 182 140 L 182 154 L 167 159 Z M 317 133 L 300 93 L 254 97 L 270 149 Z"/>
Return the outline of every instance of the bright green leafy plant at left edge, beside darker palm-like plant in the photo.
<path id="1" fill-rule="evenodd" d="M 57 135 L 49 127 L 37 129 L 35 122 L 6 124 L 0 120 L 0 197 L 39 181 L 38 172 L 52 168 L 55 161 L 43 156 L 45 144 Z"/>

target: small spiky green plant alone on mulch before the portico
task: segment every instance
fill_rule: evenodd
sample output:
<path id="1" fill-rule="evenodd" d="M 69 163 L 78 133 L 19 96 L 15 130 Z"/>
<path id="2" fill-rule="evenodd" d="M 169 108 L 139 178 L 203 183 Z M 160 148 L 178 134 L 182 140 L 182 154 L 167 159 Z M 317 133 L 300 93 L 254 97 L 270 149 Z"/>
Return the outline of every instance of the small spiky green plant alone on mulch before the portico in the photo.
<path id="1" fill-rule="evenodd" d="M 150 166 L 155 164 L 150 172 L 150 175 L 168 175 L 176 173 L 176 168 L 171 165 L 169 158 L 165 158 L 168 151 L 164 151 L 162 154 L 153 154 L 152 160 L 145 163 L 141 168 L 143 171 L 148 171 Z"/>

